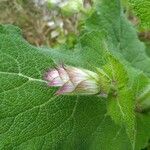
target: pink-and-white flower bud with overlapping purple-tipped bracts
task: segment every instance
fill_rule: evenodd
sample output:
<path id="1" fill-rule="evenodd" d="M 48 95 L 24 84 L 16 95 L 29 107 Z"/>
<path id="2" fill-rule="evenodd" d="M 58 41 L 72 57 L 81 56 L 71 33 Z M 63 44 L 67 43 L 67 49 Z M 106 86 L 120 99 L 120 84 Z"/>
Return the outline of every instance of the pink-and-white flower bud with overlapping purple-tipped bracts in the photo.
<path id="1" fill-rule="evenodd" d="M 97 73 L 71 66 L 58 66 L 47 72 L 49 86 L 60 87 L 56 94 L 100 94 Z"/>

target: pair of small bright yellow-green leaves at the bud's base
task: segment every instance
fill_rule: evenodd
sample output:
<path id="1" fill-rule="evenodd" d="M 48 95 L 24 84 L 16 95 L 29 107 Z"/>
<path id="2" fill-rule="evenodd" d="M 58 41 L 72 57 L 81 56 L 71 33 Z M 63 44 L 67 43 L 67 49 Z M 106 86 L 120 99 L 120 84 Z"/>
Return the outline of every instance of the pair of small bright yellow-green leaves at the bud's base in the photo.
<path id="1" fill-rule="evenodd" d="M 135 125 L 135 100 L 134 89 L 130 87 L 129 73 L 123 64 L 110 57 L 104 71 L 112 79 L 112 93 L 108 97 L 108 115 L 119 124 L 125 126 L 126 132 L 131 140 L 133 149 L 135 147 L 136 125 Z"/>

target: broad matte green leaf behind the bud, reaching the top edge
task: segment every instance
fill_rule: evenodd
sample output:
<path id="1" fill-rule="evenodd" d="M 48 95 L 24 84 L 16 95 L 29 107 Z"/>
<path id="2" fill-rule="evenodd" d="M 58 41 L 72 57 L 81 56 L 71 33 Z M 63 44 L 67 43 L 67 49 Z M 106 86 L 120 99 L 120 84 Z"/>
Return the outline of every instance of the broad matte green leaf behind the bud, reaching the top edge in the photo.
<path id="1" fill-rule="evenodd" d="M 125 18 L 120 1 L 98 2 L 97 10 L 87 20 L 86 34 L 81 37 L 82 50 L 89 47 L 93 53 L 97 52 L 103 58 L 103 50 L 107 49 L 118 56 L 120 61 L 125 60 L 150 76 L 150 58 L 146 55 L 145 46 L 138 39 L 136 30 Z"/>

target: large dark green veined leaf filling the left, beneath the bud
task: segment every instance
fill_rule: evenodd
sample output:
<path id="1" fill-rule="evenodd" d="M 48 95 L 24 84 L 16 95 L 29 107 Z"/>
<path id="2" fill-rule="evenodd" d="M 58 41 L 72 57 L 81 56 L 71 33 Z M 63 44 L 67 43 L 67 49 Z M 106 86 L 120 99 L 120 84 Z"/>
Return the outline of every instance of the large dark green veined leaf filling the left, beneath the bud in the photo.
<path id="1" fill-rule="evenodd" d="M 99 97 L 54 95 L 43 74 L 55 63 L 47 51 L 29 45 L 18 28 L 0 26 L 0 55 L 0 149 L 97 147 L 91 143 L 98 138 L 97 128 L 105 129 L 100 136 L 105 148 L 106 137 L 118 136 Z M 110 140 L 116 143 L 110 150 L 131 147 L 125 132 L 119 136 Z"/>

